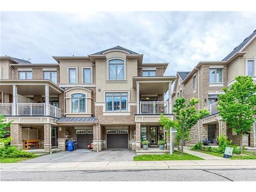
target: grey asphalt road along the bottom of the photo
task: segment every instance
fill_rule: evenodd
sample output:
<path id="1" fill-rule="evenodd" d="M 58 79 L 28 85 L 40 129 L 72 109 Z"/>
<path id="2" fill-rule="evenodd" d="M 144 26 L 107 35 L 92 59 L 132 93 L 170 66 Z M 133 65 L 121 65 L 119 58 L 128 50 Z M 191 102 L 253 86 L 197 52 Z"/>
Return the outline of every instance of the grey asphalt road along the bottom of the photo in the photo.
<path id="1" fill-rule="evenodd" d="M 1 181 L 256 181 L 256 169 L 1 172 Z"/>

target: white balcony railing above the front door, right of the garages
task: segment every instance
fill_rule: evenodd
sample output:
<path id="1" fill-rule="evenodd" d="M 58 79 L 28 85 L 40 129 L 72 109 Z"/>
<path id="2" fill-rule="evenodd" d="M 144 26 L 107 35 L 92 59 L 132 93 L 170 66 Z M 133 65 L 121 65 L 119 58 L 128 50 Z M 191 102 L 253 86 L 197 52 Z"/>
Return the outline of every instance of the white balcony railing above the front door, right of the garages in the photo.
<path id="1" fill-rule="evenodd" d="M 140 101 L 140 114 L 168 113 L 168 101 Z"/>

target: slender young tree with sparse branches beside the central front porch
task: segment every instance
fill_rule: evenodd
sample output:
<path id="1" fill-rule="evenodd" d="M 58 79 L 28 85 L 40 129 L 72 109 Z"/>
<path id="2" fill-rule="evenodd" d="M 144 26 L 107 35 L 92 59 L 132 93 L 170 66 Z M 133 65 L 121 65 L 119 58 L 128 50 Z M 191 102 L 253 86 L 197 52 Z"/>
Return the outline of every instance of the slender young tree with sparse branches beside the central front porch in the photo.
<path id="1" fill-rule="evenodd" d="M 195 105 L 199 102 L 199 99 L 191 98 L 189 102 L 185 98 L 178 98 L 175 100 L 173 113 L 175 120 L 171 120 L 165 117 L 163 114 L 160 118 L 160 124 L 164 126 L 164 129 L 169 130 L 170 127 L 177 129 L 177 145 L 181 140 L 181 153 L 183 154 L 184 140 L 189 139 L 189 132 L 191 127 L 197 124 L 197 121 L 206 115 L 209 115 L 207 110 L 196 111 Z"/>

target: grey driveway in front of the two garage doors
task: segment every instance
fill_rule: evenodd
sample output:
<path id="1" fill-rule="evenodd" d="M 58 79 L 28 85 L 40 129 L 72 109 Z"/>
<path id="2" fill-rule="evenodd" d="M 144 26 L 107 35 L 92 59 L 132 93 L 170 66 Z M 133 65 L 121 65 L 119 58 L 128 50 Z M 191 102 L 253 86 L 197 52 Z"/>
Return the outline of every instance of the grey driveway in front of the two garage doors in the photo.
<path id="1" fill-rule="evenodd" d="M 133 161 L 135 152 L 131 150 L 103 150 L 92 152 L 89 150 L 76 150 L 73 152 L 58 152 L 52 155 L 43 155 L 35 159 L 23 161 L 26 163 L 51 162 L 86 162 L 86 161 Z"/>

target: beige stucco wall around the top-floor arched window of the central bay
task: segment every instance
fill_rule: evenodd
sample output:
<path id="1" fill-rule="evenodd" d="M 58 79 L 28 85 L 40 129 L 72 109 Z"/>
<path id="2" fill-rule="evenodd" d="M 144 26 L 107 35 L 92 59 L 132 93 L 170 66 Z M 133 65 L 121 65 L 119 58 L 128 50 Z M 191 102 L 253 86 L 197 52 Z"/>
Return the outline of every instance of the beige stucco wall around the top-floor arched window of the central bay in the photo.
<path id="1" fill-rule="evenodd" d="M 107 61 L 110 58 L 120 57 L 126 60 L 126 80 L 108 81 Z M 130 92 L 130 102 L 136 102 L 136 91 L 133 89 L 133 76 L 137 76 L 137 60 L 127 60 L 122 52 L 106 53 L 106 60 L 96 60 L 96 102 L 104 102 L 104 91 L 127 91 Z M 124 75 L 125 76 L 125 75 Z M 100 91 L 99 91 L 100 89 Z"/>

